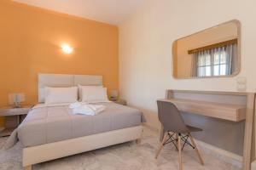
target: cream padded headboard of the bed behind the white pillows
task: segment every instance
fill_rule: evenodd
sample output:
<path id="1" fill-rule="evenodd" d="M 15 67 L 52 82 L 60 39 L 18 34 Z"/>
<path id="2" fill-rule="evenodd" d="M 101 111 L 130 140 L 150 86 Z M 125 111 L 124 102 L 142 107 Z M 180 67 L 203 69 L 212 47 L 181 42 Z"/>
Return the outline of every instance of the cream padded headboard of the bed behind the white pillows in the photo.
<path id="1" fill-rule="evenodd" d="M 38 74 L 38 102 L 44 102 L 45 87 L 72 87 L 77 85 L 100 86 L 102 76 L 67 75 L 67 74 Z"/>

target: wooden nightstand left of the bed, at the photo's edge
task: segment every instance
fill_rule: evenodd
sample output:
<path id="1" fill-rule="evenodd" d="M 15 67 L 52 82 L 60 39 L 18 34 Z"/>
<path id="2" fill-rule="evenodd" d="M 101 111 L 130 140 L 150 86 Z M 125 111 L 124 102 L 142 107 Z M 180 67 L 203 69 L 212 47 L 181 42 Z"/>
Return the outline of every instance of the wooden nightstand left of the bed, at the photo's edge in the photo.
<path id="1" fill-rule="evenodd" d="M 10 106 L 0 108 L 0 116 L 4 116 L 4 129 L 0 132 L 0 137 L 9 136 L 20 122 L 24 120 L 32 105 L 22 105 L 20 108 Z"/>

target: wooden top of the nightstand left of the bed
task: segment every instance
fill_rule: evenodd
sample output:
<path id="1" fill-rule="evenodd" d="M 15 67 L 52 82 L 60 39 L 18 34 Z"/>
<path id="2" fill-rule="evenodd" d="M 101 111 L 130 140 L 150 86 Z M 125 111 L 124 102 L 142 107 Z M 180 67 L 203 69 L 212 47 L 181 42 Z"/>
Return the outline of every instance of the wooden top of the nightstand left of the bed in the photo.
<path id="1" fill-rule="evenodd" d="M 0 107 L 0 116 L 26 115 L 31 108 L 32 105 L 21 105 L 20 108 L 14 108 L 11 106 Z"/>

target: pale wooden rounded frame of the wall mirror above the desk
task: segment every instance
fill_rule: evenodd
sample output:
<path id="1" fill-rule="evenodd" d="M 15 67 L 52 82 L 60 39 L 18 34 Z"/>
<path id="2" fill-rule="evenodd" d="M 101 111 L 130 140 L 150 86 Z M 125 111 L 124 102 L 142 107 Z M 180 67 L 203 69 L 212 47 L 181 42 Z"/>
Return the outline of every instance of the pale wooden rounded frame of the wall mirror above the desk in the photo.
<path id="1" fill-rule="evenodd" d="M 236 24 L 237 26 L 237 58 L 238 58 L 238 68 L 237 68 L 237 71 L 234 72 L 232 75 L 227 75 L 227 76 L 211 76 L 211 77 L 175 77 L 174 76 L 174 44 L 178 41 L 178 40 L 181 40 L 183 38 L 186 38 L 186 37 L 191 37 L 191 36 L 195 36 L 195 34 L 198 34 L 198 33 L 201 33 L 203 31 L 208 31 L 208 30 L 211 30 L 212 28 L 215 28 L 215 27 L 218 27 L 218 26 L 222 26 L 222 25 L 225 25 L 225 24 L 229 24 L 229 23 L 234 23 Z M 181 37 L 181 38 L 178 38 L 177 40 L 175 40 L 174 42 L 172 42 L 172 77 L 177 79 L 177 80 L 182 80 L 182 79 L 202 79 L 202 78 L 220 78 L 220 77 L 224 77 L 224 78 L 228 78 L 228 77 L 236 77 L 241 71 L 241 22 L 239 20 L 230 20 L 230 21 L 227 21 L 227 22 L 224 22 L 224 23 L 221 23 L 221 24 L 218 24 L 217 26 L 212 26 L 212 27 L 209 27 L 205 30 L 202 30 L 202 31 L 197 31 L 193 34 L 190 34 L 189 36 L 185 36 L 185 37 Z"/>

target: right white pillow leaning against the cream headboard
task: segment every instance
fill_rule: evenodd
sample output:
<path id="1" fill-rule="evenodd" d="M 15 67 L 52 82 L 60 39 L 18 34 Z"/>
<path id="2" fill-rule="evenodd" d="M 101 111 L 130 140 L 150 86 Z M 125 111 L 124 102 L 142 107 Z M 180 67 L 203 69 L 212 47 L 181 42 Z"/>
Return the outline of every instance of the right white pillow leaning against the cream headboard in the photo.
<path id="1" fill-rule="evenodd" d="M 81 102 L 96 103 L 109 102 L 107 88 L 100 87 L 81 87 L 82 99 Z"/>

